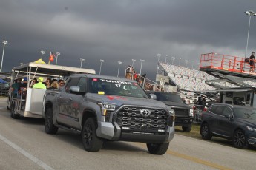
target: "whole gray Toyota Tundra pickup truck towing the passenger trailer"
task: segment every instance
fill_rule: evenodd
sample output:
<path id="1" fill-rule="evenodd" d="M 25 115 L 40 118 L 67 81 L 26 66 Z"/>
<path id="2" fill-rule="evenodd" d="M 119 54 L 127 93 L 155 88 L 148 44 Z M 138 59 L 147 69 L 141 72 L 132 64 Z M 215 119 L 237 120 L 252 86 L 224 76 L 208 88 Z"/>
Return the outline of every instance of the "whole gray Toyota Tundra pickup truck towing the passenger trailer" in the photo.
<path id="1" fill-rule="evenodd" d="M 81 132 L 89 152 L 99 151 L 104 140 L 122 140 L 146 143 L 149 153 L 165 154 L 174 137 L 174 109 L 148 98 L 137 81 L 125 78 L 71 75 L 62 89 L 47 89 L 43 105 L 45 132 Z"/>

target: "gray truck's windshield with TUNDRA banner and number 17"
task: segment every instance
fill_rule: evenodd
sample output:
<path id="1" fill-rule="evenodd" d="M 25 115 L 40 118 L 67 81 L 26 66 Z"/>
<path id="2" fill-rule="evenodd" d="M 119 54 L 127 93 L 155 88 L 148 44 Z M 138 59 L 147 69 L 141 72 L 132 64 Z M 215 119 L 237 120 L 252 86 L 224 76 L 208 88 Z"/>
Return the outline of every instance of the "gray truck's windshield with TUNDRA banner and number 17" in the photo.
<path id="1" fill-rule="evenodd" d="M 88 90 L 99 95 L 120 95 L 134 98 L 148 98 L 137 82 L 118 81 L 104 78 L 89 78 Z"/>

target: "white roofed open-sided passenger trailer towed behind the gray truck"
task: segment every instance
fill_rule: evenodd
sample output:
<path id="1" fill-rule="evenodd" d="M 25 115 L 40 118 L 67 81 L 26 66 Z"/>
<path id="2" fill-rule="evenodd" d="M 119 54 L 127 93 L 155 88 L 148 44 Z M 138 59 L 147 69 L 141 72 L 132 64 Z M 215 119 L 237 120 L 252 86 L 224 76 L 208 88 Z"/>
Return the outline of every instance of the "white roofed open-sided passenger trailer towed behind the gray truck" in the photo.
<path id="1" fill-rule="evenodd" d="M 43 96 L 47 89 L 33 89 L 30 87 L 33 78 L 62 78 L 65 79 L 74 73 L 95 74 L 94 69 L 82 69 L 77 67 L 66 67 L 50 64 L 37 64 L 30 62 L 12 69 L 11 82 L 16 78 L 27 78 L 26 95 L 13 95 L 10 90 L 7 99 L 7 109 L 11 110 L 12 118 L 19 118 L 20 115 L 30 118 L 42 118 Z"/>

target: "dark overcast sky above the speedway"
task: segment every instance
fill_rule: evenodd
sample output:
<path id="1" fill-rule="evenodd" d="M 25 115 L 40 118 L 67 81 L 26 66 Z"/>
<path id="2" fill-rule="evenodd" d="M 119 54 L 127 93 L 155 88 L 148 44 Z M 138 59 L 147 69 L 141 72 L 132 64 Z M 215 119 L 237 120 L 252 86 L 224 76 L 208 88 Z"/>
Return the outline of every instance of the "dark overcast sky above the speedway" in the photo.
<path id="1" fill-rule="evenodd" d="M 95 69 L 123 76 L 134 68 L 155 77 L 160 61 L 194 68 L 200 54 L 244 57 L 249 26 L 246 10 L 255 0 L 1 0 L 0 40 L 8 41 L 2 71 L 60 52 L 58 65 Z M 0 54 L 3 44 L 0 46 Z M 251 18 L 247 56 L 256 51 L 256 16 Z M 0 59 L 1 61 L 1 59 Z M 55 61 L 52 63 L 55 64 Z M 197 65 L 198 68 L 198 65 Z"/>

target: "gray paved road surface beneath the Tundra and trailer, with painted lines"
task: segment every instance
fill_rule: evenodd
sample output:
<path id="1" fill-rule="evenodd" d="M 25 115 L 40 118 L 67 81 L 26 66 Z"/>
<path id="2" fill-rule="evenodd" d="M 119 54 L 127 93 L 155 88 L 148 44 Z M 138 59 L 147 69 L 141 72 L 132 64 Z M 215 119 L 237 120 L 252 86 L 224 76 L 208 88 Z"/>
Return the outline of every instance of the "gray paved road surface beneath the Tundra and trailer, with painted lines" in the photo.
<path id="1" fill-rule="evenodd" d="M 0 169 L 255 169 L 255 152 L 175 135 L 163 156 L 144 143 L 106 142 L 86 152 L 81 137 L 45 134 L 42 119 L 10 118 L 0 98 Z"/>

